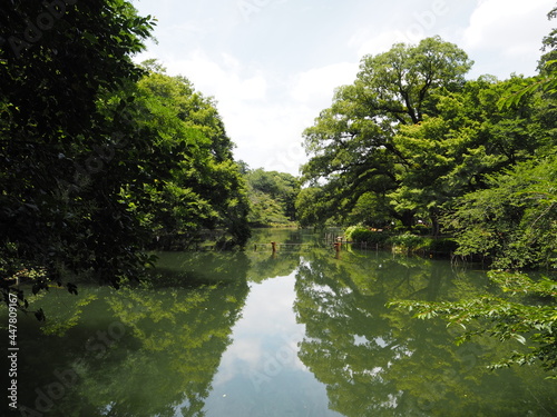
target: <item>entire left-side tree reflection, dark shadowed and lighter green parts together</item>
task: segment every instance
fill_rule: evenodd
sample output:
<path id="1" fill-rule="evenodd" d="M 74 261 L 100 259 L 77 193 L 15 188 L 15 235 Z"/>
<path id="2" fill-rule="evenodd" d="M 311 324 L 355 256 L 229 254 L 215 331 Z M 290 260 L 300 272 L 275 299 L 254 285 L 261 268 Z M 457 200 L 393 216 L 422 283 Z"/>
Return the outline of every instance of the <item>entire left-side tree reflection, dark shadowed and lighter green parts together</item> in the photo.
<path id="1" fill-rule="evenodd" d="M 66 309 L 82 310 L 63 338 L 40 334 L 32 321 L 21 324 L 20 338 L 30 341 L 26 349 L 33 353 L 20 359 L 25 413 L 203 416 L 248 294 L 245 257 L 215 254 L 212 262 L 204 261 L 201 280 L 206 284 L 195 288 L 184 281 L 194 274 L 193 257 L 164 269 L 157 278 L 163 286 L 95 289 L 97 299 L 81 307 L 78 298 L 63 296 Z M 51 389 L 60 386 L 56 375 L 66 376 L 63 393 Z"/>

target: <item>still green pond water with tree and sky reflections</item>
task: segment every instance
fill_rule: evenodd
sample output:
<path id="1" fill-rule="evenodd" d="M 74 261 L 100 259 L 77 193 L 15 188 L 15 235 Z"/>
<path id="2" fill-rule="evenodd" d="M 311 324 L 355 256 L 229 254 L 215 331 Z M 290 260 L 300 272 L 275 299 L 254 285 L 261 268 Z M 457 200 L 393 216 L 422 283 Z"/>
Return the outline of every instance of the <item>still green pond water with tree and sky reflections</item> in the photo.
<path id="1" fill-rule="evenodd" d="M 254 250 L 270 241 L 291 245 Z M 481 270 L 321 244 L 264 230 L 244 252 L 159 254 L 133 289 L 38 297 L 48 321 L 18 318 L 10 415 L 557 416 L 541 370 L 486 369 L 519 346 L 457 347 L 457 329 L 385 307 L 495 291 Z M 0 319 L 7 341 L 4 307 Z"/>

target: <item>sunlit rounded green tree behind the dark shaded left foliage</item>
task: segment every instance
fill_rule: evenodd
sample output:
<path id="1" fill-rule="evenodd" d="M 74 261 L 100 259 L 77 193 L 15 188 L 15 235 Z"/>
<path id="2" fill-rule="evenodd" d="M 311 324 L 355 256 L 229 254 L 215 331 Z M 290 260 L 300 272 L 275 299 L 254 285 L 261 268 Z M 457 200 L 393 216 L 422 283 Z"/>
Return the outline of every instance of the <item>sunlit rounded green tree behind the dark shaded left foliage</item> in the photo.
<path id="1" fill-rule="evenodd" d="M 156 145 L 177 165 L 170 179 L 149 187 L 153 205 L 131 201 L 157 235 L 190 239 L 202 228 L 222 228 L 238 245 L 250 237 L 246 186 L 233 159 L 233 143 L 211 98 L 184 77 L 169 77 L 154 61 L 138 83 L 138 122 L 159 135 Z M 158 172 L 150 175 L 158 178 Z M 164 177 L 163 177 L 164 179 Z"/>

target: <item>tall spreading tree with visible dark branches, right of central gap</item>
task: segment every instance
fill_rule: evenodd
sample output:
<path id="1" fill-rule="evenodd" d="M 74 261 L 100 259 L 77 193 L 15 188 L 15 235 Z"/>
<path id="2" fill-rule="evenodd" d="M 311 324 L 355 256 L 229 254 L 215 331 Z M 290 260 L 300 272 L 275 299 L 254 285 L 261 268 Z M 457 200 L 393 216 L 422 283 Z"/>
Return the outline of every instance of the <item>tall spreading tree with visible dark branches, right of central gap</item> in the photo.
<path id="1" fill-rule="evenodd" d="M 345 216 L 369 192 L 383 201 L 398 187 L 397 171 L 409 166 L 394 136 L 401 126 L 434 116 L 434 92 L 461 89 L 471 64 L 461 49 L 439 37 L 364 57 L 354 83 L 339 88 L 333 105 L 304 131 L 311 159 L 303 179 L 324 183 L 328 209 L 321 212 Z M 385 209 L 411 225 L 413 210 Z"/>

